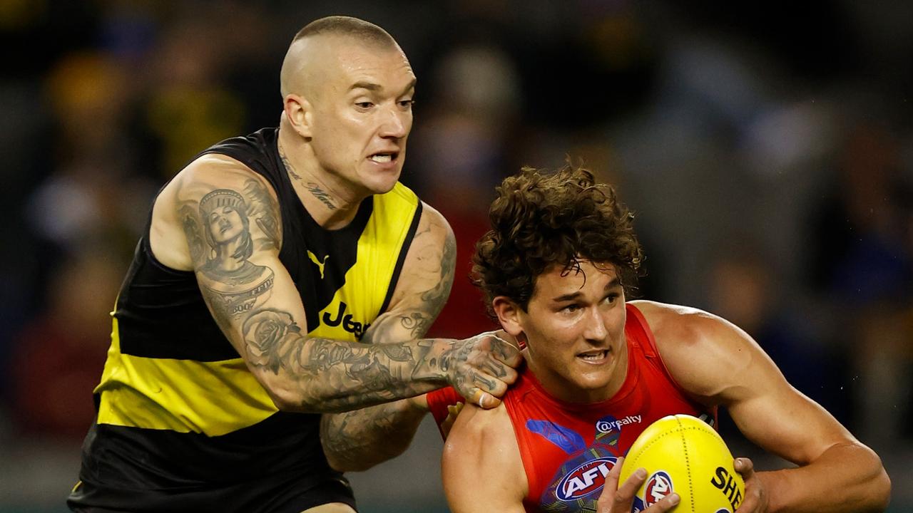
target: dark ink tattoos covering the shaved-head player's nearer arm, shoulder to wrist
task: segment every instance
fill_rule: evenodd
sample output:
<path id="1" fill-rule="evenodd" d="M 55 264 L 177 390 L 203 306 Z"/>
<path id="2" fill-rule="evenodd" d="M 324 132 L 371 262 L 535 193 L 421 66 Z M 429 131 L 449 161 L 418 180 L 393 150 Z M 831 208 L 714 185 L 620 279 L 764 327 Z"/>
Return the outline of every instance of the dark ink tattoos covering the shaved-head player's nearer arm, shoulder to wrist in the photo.
<path id="1" fill-rule="evenodd" d="M 415 395 L 428 389 L 427 382 L 407 379 L 416 369 L 428 380 L 440 379 L 434 341 L 372 346 L 309 338 L 295 310 L 269 301 L 276 273 L 251 258 L 281 241 L 270 229 L 278 226 L 275 200 L 262 184 L 212 188 L 184 201 L 178 212 L 215 322 L 252 369 L 288 378 L 300 401 L 290 408 L 342 412 Z"/>

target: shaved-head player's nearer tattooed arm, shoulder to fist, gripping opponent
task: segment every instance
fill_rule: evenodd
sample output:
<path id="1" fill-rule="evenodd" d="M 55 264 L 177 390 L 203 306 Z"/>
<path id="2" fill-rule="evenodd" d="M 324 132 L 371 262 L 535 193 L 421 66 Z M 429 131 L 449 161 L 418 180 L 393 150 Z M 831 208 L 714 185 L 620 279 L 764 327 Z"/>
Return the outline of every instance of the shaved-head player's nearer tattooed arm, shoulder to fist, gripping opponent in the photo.
<path id="1" fill-rule="evenodd" d="M 278 259 L 280 225 L 268 184 L 222 156 L 202 157 L 175 177 L 156 202 L 152 223 L 153 252 L 184 237 L 185 255 L 156 257 L 194 270 L 213 318 L 279 409 L 343 412 L 448 382 L 466 393 L 504 393 L 507 383 L 483 369 L 509 376 L 505 361 L 517 364 L 519 355 L 498 340 L 309 338 L 304 306 Z M 467 382 L 466 375 L 481 377 Z"/>

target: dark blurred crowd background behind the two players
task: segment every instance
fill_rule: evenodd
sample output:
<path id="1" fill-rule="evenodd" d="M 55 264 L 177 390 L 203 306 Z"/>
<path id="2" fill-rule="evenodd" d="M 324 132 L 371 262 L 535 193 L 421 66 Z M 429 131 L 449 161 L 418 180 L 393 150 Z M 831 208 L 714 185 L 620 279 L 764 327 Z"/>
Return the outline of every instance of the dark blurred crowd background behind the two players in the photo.
<path id="1" fill-rule="evenodd" d="M 747 330 L 913 511 L 913 3 L 0 0 L 0 512 L 65 510 L 152 194 L 277 124 L 286 47 L 331 14 L 419 79 L 403 181 L 459 244 L 435 334 L 491 326 L 466 276 L 494 184 L 585 162 L 635 211 L 640 296 Z M 362 511 L 446 512 L 440 448 L 427 423 L 353 474 Z"/>

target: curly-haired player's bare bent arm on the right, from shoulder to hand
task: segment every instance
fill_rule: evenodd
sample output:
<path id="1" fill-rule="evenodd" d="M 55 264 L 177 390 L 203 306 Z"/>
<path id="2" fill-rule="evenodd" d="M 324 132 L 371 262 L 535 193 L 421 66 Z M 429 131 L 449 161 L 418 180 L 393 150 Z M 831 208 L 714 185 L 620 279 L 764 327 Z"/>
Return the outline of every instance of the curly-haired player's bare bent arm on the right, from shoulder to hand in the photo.
<path id="1" fill-rule="evenodd" d="M 697 309 L 638 301 L 669 372 L 687 392 L 729 410 L 740 431 L 797 468 L 755 472 L 746 458 L 740 513 L 882 511 L 890 480 L 878 456 L 817 403 L 792 388 L 738 327 Z M 693 364 L 700 354 L 702 365 Z"/>

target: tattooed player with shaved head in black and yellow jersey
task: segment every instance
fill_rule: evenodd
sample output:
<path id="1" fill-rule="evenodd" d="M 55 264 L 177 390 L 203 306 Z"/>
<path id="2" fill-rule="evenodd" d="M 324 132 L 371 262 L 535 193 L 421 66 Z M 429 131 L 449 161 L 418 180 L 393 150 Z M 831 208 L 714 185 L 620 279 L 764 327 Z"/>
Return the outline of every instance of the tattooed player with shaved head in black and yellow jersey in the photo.
<path id="1" fill-rule="evenodd" d="M 152 204 L 73 510 L 352 512 L 341 470 L 404 450 L 426 413 L 412 398 L 450 384 L 494 407 L 516 378 L 492 334 L 422 338 L 456 250 L 398 181 L 415 75 L 394 38 L 314 21 L 281 93 L 278 128 L 201 152 Z M 352 411 L 385 419 L 357 441 L 383 451 L 354 463 Z"/>

